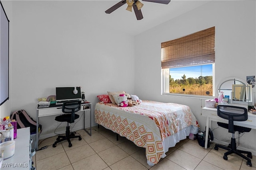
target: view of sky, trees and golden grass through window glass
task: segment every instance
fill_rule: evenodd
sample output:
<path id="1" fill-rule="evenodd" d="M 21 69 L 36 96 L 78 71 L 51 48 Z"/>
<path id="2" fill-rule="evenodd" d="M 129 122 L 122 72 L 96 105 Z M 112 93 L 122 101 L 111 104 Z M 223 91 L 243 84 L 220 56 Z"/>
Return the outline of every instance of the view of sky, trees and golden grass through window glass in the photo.
<path id="1" fill-rule="evenodd" d="M 212 96 L 212 64 L 170 68 L 170 93 Z"/>

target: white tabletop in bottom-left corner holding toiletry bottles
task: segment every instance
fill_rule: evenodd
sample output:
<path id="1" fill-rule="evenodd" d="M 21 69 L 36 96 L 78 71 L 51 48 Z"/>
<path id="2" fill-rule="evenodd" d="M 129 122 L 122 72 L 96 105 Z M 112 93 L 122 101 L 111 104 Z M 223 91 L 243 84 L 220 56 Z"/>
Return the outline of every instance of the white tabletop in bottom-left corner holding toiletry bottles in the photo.
<path id="1" fill-rule="evenodd" d="M 1 170 L 30 170 L 30 128 L 17 129 L 14 141 L 14 155 L 2 162 Z"/>

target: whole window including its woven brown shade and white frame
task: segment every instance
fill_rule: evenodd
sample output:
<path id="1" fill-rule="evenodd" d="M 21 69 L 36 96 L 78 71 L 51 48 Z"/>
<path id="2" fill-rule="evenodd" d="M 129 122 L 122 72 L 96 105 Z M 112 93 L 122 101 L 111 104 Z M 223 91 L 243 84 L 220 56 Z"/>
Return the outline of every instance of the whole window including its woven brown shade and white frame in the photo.
<path id="1" fill-rule="evenodd" d="M 213 96 L 215 27 L 161 43 L 162 94 Z"/>

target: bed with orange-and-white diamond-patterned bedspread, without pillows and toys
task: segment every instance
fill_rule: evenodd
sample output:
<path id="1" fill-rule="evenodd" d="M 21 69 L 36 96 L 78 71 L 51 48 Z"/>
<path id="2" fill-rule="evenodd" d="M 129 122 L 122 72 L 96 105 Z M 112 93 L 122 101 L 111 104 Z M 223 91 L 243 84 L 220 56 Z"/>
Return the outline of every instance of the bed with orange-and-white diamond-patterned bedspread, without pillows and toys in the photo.
<path id="1" fill-rule="evenodd" d="M 164 158 L 170 147 L 199 130 L 190 107 L 174 103 L 143 100 L 135 107 L 119 107 L 98 102 L 94 116 L 99 125 L 146 148 L 151 166 Z"/>

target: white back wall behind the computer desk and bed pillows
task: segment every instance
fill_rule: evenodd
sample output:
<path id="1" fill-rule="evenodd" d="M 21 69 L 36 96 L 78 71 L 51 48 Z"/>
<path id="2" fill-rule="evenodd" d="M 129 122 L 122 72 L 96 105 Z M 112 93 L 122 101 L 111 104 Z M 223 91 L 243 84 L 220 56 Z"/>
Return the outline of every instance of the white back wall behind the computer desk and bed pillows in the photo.
<path id="1" fill-rule="evenodd" d="M 13 2 L 13 111 L 25 109 L 36 119 L 37 98 L 55 95 L 55 87 L 81 86 L 92 103 L 96 125 L 97 95 L 107 90 L 134 93 L 134 37 L 88 21 L 86 17 L 94 17 L 86 13 L 88 3 L 92 2 Z M 78 10 L 82 7 L 86 8 Z M 55 130 L 54 117 L 40 118 L 40 137 Z M 77 126 L 82 127 L 82 121 Z"/>

